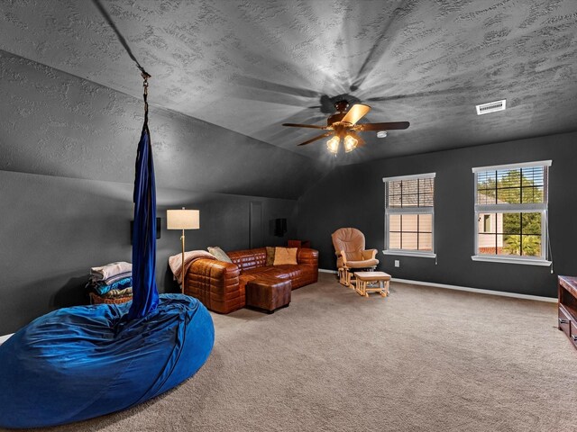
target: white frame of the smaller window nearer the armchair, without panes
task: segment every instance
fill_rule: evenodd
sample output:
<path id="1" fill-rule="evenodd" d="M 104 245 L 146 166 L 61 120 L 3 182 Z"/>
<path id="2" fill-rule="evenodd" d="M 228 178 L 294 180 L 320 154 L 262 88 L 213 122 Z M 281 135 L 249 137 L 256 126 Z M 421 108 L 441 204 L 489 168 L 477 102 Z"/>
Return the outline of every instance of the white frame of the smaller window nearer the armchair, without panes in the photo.
<path id="1" fill-rule="evenodd" d="M 424 257 L 436 258 L 435 252 L 435 173 L 425 173 L 416 175 L 398 175 L 394 177 L 383 177 L 382 181 L 385 184 L 385 248 L 382 250 L 384 255 L 396 255 L 401 257 Z M 433 205 L 431 207 L 391 207 L 389 208 L 389 182 L 408 181 L 408 180 L 424 180 L 427 178 L 433 179 Z M 431 215 L 431 247 L 432 251 L 423 251 L 417 249 L 391 249 L 389 248 L 389 225 L 391 215 L 403 214 L 430 214 Z M 402 232 L 402 231 L 401 231 Z M 418 238 L 418 232 L 417 232 Z"/>

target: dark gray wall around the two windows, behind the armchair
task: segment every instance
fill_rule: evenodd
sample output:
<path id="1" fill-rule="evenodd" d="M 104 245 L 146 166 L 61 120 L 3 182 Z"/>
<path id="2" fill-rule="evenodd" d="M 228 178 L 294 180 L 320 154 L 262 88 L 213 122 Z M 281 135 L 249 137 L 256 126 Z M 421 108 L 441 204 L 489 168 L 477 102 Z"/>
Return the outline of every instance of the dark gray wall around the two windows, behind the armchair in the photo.
<path id="1" fill-rule="evenodd" d="M 320 251 L 320 267 L 335 269 L 331 233 L 355 227 L 379 249 L 379 269 L 393 277 L 511 293 L 556 296 L 556 275 L 577 274 L 577 193 L 573 187 L 577 133 L 502 142 L 343 166 L 298 200 L 298 236 Z M 382 145 L 386 145 L 386 142 Z M 553 159 L 549 231 L 554 275 L 544 266 L 473 262 L 473 166 Z M 435 242 L 431 258 L 384 256 L 382 177 L 435 172 Z M 393 261 L 400 260 L 395 268 Z"/>

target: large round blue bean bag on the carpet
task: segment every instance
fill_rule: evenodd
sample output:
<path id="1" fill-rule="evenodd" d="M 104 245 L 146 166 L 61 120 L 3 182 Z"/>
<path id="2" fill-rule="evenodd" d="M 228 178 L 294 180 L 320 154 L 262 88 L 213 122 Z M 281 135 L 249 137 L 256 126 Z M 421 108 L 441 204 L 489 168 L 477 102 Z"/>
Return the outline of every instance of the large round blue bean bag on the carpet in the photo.
<path id="1" fill-rule="evenodd" d="M 202 303 L 160 294 L 156 310 L 124 320 L 131 303 L 53 311 L 0 346 L 0 427 L 54 426 L 125 410 L 204 365 L 215 328 Z"/>

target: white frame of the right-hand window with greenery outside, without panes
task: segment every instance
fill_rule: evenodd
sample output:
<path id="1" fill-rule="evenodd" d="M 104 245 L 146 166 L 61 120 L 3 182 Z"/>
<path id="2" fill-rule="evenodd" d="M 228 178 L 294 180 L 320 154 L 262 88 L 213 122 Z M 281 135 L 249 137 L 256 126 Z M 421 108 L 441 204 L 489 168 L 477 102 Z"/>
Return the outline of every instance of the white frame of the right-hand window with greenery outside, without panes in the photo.
<path id="1" fill-rule="evenodd" d="M 548 216 L 549 216 L 549 166 L 553 163 L 552 160 L 540 160 L 535 162 L 524 162 L 519 164 L 507 164 L 507 165 L 497 165 L 497 166 L 479 166 L 473 167 L 473 187 L 474 187 L 474 255 L 471 259 L 473 261 L 485 261 L 493 263 L 508 263 L 508 264 L 522 264 L 529 266 L 551 266 L 551 261 L 547 259 L 548 255 Z M 504 171 L 504 170 L 515 170 L 521 168 L 537 167 L 542 166 L 545 168 L 546 181 L 544 184 L 544 194 L 546 199 L 544 202 L 526 202 L 526 203 L 495 203 L 495 204 L 479 204 L 477 203 L 478 197 L 478 175 L 479 173 L 489 172 L 489 171 Z M 546 190 L 545 190 L 546 188 Z M 508 256 L 508 255 L 492 255 L 492 254 L 480 254 L 479 253 L 479 220 L 481 214 L 506 214 L 506 213 L 541 213 L 541 255 L 539 257 L 532 256 Z M 497 227 L 496 227 L 497 229 Z M 519 234 L 521 235 L 521 234 Z"/>

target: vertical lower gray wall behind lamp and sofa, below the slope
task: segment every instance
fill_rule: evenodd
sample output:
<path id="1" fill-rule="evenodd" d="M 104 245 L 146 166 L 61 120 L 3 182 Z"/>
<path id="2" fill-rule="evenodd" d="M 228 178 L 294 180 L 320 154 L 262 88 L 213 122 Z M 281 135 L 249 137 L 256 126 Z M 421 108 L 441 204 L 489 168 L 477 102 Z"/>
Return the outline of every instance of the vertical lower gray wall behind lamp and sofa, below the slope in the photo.
<path id="1" fill-rule="evenodd" d="M 0 171 L 0 335 L 47 311 L 87 304 L 91 266 L 132 261 L 133 185 Z M 295 200 L 191 193 L 159 188 L 157 283 L 175 292 L 168 258 L 180 252 L 180 230 L 166 229 L 166 210 L 200 210 L 200 229 L 186 232 L 187 250 L 248 247 L 250 202 L 262 202 L 264 244 L 286 244 L 296 233 Z M 272 220 L 287 218 L 289 232 L 274 237 Z"/>

